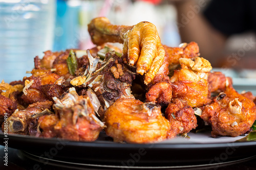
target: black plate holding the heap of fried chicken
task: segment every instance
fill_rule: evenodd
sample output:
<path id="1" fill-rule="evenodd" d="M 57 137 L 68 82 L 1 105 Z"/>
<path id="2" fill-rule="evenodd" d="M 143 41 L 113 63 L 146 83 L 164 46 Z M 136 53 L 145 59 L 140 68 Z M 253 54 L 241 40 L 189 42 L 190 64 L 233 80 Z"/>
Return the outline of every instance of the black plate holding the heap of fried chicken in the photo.
<path id="1" fill-rule="evenodd" d="M 4 145 L 4 135 L 0 134 Z M 205 136 L 209 138 L 209 136 Z M 200 139 L 201 140 L 201 139 Z M 217 139 L 216 139 L 217 140 Z M 104 133 L 95 142 L 46 139 L 25 135 L 9 135 L 8 147 L 40 158 L 83 164 L 116 166 L 179 166 L 235 161 L 256 155 L 256 142 L 191 143 L 114 143 Z M 39 158 L 39 160 L 40 160 Z"/>

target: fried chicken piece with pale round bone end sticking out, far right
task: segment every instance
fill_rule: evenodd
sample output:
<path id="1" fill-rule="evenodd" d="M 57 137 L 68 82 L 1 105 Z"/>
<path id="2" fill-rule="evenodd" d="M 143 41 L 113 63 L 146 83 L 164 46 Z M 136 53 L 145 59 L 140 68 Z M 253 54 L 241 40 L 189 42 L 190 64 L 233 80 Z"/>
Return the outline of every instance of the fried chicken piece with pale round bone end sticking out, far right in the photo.
<path id="1" fill-rule="evenodd" d="M 211 125 L 213 137 L 236 137 L 246 133 L 254 123 L 255 104 L 229 84 L 214 102 L 202 107 L 201 118 Z"/>

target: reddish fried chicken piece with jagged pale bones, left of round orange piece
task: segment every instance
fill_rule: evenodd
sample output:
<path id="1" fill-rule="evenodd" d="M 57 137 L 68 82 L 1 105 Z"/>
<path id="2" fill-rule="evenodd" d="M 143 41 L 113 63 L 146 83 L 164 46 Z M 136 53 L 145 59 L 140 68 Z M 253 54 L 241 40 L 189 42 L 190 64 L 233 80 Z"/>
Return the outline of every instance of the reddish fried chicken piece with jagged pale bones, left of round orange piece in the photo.
<path id="1" fill-rule="evenodd" d="M 54 101 L 58 118 L 53 115 L 39 118 L 42 136 L 76 141 L 94 141 L 98 138 L 104 124 L 95 116 L 88 96 L 82 98 L 74 88 L 70 88 L 62 99 L 55 97 Z"/>

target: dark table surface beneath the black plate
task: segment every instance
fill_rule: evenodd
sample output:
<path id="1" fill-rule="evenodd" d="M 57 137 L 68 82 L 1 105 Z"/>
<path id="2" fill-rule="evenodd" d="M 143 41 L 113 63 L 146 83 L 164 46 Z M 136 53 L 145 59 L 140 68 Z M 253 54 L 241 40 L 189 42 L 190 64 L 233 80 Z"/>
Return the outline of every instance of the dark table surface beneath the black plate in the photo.
<path id="1" fill-rule="evenodd" d="M 102 168 L 102 167 L 88 167 L 88 166 L 87 167 L 85 166 L 60 167 L 52 164 L 43 164 L 25 157 L 22 154 L 22 152 L 12 148 L 8 148 L 8 166 L 5 166 L 4 153 L 5 153 L 4 147 L 0 145 L 0 162 L 1 162 L 0 169 L 16 169 L 16 170 L 19 170 L 19 169 L 49 169 L 49 170 L 52 170 L 52 169 L 127 169 L 127 168 Z M 172 169 L 177 169 L 177 168 L 172 168 Z M 183 168 L 179 168 L 179 169 L 181 170 Z M 193 168 L 184 168 L 184 169 L 251 170 L 251 169 L 256 169 L 256 155 L 253 158 L 250 158 L 244 161 L 238 161 L 232 164 L 215 165 L 210 167 L 193 167 Z"/>

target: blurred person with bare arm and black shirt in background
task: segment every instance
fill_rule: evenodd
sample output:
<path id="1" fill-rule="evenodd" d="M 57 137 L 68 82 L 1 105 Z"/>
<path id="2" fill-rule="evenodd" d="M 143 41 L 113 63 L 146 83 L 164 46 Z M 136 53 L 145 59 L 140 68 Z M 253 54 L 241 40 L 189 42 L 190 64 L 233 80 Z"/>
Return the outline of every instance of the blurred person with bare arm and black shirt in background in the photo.
<path id="1" fill-rule="evenodd" d="M 201 56 L 208 59 L 214 67 L 221 66 L 220 61 L 227 62 L 223 61 L 223 50 L 231 35 L 256 31 L 256 1 L 178 0 L 174 4 L 182 42 L 197 42 Z M 247 41 L 247 49 L 255 46 L 256 42 L 251 38 Z M 241 58 L 230 56 L 229 64 L 232 59 L 238 61 Z"/>

